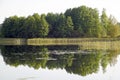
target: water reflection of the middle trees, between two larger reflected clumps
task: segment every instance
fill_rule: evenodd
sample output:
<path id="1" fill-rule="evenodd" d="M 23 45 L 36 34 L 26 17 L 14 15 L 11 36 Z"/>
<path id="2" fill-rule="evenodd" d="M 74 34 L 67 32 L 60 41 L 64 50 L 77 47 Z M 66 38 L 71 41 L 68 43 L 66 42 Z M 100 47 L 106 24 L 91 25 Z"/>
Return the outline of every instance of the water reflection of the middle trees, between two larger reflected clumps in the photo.
<path id="1" fill-rule="evenodd" d="M 61 68 L 64 69 L 67 66 L 71 66 L 74 58 L 74 54 L 52 54 L 52 58 L 56 60 L 49 60 L 46 66 L 49 69 Z"/>

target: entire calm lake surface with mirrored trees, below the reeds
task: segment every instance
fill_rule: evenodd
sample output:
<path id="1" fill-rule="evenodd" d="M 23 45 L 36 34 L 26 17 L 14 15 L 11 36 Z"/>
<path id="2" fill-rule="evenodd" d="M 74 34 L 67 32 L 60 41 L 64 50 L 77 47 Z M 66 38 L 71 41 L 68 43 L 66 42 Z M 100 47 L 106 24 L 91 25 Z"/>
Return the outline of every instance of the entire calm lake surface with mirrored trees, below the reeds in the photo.
<path id="1" fill-rule="evenodd" d="M 119 80 L 120 50 L 1 46 L 0 80 Z"/>

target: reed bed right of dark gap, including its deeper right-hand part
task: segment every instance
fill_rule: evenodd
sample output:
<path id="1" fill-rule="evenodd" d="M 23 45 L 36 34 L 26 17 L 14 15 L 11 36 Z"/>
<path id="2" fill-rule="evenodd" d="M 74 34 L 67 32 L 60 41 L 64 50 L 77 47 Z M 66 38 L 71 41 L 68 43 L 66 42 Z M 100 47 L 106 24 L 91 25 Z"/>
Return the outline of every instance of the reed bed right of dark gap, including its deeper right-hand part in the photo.
<path id="1" fill-rule="evenodd" d="M 33 38 L 28 45 L 79 45 L 81 49 L 120 49 L 119 38 Z"/>

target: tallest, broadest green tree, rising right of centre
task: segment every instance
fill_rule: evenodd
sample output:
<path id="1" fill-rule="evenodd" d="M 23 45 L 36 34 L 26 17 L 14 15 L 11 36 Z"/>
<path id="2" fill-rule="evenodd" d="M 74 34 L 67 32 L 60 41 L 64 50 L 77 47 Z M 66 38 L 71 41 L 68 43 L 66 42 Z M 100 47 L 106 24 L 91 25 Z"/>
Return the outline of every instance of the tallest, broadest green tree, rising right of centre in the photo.
<path id="1" fill-rule="evenodd" d="M 97 37 L 99 34 L 99 13 L 97 9 L 86 6 L 68 9 L 65 15 L 70 15 L 74 24 L 74 33 L 77 37 Z"/>

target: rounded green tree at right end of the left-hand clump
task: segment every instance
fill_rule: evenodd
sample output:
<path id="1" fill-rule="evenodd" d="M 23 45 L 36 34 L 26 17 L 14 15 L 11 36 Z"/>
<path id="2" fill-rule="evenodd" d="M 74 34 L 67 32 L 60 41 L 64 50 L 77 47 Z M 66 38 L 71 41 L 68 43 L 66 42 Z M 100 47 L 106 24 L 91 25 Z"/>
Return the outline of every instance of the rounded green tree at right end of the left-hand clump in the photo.
<path id="1" fill-rule="evenodd" d="M 32 16 L 28 16 L 24 23 L 24 37 L 45 37 L 48 35 L 49 27 L 45 19 L 45 15 L 39 15 L 37 13 Z"/>

